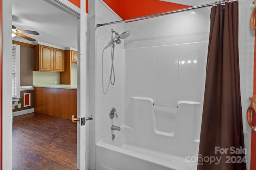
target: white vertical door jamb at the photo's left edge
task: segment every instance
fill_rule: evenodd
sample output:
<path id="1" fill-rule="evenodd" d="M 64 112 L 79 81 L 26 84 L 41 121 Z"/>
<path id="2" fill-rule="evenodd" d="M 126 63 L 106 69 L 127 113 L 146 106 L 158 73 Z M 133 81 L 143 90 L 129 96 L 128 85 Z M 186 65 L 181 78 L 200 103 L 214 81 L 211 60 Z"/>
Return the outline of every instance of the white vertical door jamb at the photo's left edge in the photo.
<path id="1" fill-rule="evenodd" d="M 12 169 L 12 0 L 2 1 L 2 169 Z"/>

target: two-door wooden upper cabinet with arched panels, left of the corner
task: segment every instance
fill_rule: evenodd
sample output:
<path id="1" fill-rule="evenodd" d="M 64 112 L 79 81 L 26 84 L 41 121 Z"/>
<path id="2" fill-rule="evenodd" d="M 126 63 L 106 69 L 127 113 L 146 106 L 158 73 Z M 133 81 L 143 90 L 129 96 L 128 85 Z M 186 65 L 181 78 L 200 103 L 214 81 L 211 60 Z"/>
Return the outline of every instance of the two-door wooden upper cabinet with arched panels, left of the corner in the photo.
<path id="1" fill-rule="evenodd" d="M 64 72 L 64 58 L 64 50 L 48 47 L 45 45 L 35 45 L 34 70 Z"/>

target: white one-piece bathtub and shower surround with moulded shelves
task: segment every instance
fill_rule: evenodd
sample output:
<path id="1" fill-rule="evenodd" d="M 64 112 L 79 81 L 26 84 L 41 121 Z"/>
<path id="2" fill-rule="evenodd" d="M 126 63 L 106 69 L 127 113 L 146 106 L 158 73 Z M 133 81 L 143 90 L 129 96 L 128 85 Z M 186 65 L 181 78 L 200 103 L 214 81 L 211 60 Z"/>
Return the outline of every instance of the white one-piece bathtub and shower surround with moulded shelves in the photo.
<path id="1" fill-rule="evenodd" d="M 118 119 L 114 119 L 112 127 L 108 124 L 110 119 L 106 112 L 99 117 L 100 120 L 97 119 L 96 133 L 98 129 L 100 137 L 96 139 L 95 146 L 96 169 L 196 170 L 208 42 L 191 40 L 192 43 L 143 44 L 122 49 L 120 39 L 130 33 L 126 31 L 119 35 L 113 29 L 111 32 L 115 37 L 110 43 L 100 36 L 96 38 L 100 51 L 98 62 L 102 65 L 98 96 L 103 98 L 98 98 L 98 106 L 100 112 L 105 112 L 106 107 L 108 112 L 111 107 L 119 110 Z M 151 38 L 145 41 L 150 43 Z M 112 52 L 116 46 L 115 55 L 124 54 L 115 56 L 121 61 L 118 64 L 113 62 Z M 110 62 L 104 63 L 109 59 L 106 55 L 110 54 L 111 66 L 108 65 Z M 115 71 L 118 70 L 116 84 L 114 65 L 117 67 Z M 103 69 L 105 67 L 111 68 L 110 80 Z M 108 94 L 107 90 L 100 94 L 104 78 L 114 85 L 109 88 L 112 92 L 119 90 L 116 94 Z"/>

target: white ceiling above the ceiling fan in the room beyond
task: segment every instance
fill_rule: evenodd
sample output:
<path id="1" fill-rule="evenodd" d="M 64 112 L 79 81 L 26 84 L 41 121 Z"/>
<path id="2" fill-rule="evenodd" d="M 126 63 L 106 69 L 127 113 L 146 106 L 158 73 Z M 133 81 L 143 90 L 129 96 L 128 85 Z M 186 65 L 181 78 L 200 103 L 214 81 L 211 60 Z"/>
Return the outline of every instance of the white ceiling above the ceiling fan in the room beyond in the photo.
<path id="1" fill-rule="evenodd" d="M 44 0 L 12 0 L 12 25 L 37 31 L 40 35 L 24 33 L 37 41 L 77 49 L 77 23 L 77 18 Z"/>

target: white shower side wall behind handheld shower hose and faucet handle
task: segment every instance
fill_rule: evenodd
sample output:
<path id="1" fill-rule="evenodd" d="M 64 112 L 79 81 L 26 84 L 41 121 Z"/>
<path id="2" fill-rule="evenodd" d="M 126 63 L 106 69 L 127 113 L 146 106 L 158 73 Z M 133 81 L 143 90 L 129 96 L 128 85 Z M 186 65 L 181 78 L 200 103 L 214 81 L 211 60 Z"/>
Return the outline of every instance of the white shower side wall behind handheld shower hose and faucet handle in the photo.
<path id="1" fill-rule="evenodd" d="M 96 2 L 96 23 L 106 23 L 120 20 L 113 14 L 104 2 Z M 118 33 L 124 32 L 123 24 L 107 25 L 96 29 L 96 143 L 105 137 L 111 138 L 111 126 L 122 125 L 123 96 L 124 96 L 124 43 L 115 45 L 114 48 L 114 70 L 115 84 L 110 84 L 111 55 L 110 43 L 112 41 L 111 29 Z M 109 111 L 116 108 L 118 119 L 110 119 Z"/>

